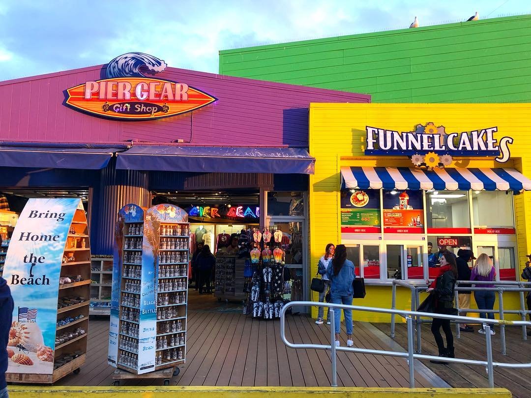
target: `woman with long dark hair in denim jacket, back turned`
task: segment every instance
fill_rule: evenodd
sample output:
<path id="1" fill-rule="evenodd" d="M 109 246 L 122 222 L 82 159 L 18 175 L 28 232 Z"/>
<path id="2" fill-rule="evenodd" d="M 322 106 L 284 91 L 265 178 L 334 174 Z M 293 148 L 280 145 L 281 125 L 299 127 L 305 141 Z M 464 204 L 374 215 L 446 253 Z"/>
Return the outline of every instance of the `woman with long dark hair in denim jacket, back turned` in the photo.
<path id="1" fill-rule="evenodd" d="M 354 295 L 352 282 L 356 274 L 354 273 L 354 264 L 347 260 L 347 248 L 344 244 L 336 246 L 334 258 L 327 268 L 327 275 L 330 280 L 330 302 L 351 306 Z M 339 346 L 340 314 L 340 310 L 334 310 L 336 346 Z M 343 310 L 343 314 L 347 328 L 347 346 L 351 347 L 354 345 L 354 341 L 352 341 L 352 310 Z"/>

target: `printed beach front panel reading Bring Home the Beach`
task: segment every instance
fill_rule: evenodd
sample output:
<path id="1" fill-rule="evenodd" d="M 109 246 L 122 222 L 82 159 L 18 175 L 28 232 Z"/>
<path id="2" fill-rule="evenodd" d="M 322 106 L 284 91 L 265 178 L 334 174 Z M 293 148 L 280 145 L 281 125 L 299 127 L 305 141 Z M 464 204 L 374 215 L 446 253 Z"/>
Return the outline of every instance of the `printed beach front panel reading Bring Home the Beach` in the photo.
<path id="1" fill-rule="evenodd" d="M 59 276 L 78 206 L 80 199 L 29 199 L 16 223 L 4 266 L 15 304 L 7 373 L 53 374 Z"/>

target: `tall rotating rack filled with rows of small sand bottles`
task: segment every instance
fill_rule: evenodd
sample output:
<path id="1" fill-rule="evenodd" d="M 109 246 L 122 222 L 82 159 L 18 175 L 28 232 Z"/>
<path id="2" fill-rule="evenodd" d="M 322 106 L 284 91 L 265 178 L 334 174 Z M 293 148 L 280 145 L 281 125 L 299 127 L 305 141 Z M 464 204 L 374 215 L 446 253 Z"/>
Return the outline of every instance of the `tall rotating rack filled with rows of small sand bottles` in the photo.
<path id="1" fill-rule="evenodd" d="M 108 363 L 135 374 L 185 361 L 190 224 L 183 209 L 127 205 L 115 228 Z"/>

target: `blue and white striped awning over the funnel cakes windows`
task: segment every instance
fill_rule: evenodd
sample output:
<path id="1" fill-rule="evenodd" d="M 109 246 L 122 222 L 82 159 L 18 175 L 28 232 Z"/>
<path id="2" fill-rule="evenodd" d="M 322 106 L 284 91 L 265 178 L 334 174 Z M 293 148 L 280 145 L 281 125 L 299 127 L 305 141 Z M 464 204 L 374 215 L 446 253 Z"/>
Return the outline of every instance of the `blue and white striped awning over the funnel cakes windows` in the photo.
<path id="1" fill-rule="evenodd" d="M 513 168 L 341 167 L 341 188 L 521 192 L 531 180 Z"/>

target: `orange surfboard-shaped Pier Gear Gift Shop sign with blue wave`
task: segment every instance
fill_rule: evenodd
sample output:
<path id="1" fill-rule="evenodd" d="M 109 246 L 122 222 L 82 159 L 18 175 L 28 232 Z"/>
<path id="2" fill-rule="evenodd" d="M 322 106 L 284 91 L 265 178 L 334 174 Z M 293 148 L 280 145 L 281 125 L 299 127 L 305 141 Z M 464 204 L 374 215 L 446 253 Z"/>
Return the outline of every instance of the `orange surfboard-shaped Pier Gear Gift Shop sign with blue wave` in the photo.
<path id="1" fill-rule="evenodd" d="M 157 79 L 166 69 L 159 58 L 143 53 L 120 55 L 107 65 L 107 79 L 66 90 L 66 105 L 95 116 L 152 120 L 191 112 L 216 98 L 186 83 Z"/>

